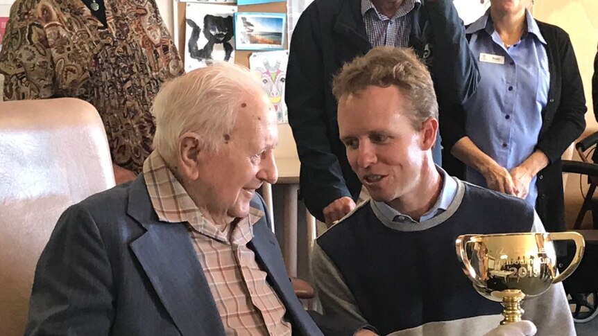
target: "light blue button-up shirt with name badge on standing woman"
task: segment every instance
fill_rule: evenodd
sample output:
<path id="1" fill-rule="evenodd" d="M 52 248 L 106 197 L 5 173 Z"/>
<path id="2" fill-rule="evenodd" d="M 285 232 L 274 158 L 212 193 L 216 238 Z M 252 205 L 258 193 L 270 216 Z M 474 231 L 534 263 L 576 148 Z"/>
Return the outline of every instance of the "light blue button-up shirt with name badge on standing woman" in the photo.
<path id="1" fill-rule="evenodd" d="M 481 81 L 465 103 L 465 132 L 477 147 L 500 166 L 511 170 L 536 149 L 542 110 L 550 85 L 546 41 L 538 24 L 525 12 L 527 31 L 505 48 L 489 10 L 466 30 L 470 49 L 479 62 Z M 468 167 L 466 181 L 486 187 L 486 179 Z M 536 206 L 536 177 L 526 201 Z"/>

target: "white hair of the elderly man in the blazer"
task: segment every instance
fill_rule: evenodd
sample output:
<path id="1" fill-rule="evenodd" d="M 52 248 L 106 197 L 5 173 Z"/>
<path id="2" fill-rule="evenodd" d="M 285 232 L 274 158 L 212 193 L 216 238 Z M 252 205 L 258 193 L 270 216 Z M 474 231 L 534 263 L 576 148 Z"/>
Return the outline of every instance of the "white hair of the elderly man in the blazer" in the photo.
<path id="1" fill-rule="evenodd" d="M 156 124 L 153 148 L 166 163 L 176 164 L 180 136 L 195 132 L 202 137 L 204 150 L 218 151 L 223 136 L 232 132 L 241 100 L 255 94 L 265 94 L 257 78 L 228 62 L 167 82 L 151 109 Z"/>

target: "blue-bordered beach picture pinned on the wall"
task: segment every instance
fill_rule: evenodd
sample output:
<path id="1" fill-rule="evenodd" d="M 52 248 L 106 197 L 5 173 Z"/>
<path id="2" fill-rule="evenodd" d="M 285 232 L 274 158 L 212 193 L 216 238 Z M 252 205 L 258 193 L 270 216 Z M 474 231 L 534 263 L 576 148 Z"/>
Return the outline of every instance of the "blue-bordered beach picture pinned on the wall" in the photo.
<path id="1" fill-rule="evenodd" d="M 234 44 L 237 50 L 283 50 L 287 14 L 234 13 Z"/>

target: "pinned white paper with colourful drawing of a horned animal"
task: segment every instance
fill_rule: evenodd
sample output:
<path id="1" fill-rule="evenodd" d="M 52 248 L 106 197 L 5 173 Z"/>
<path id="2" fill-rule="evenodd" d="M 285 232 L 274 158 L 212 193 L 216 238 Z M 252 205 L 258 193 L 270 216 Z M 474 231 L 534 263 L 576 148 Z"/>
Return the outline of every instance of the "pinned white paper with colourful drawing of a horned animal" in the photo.
<path id="1" fill-rule="evenodd" d="M 249 69 L 262 82 L 262 87 L 274 108 L 278 123 L 288 123 L 287 104 L 284 103 L 284 82 L 287 80 L 289 51 L 264 51 L 252 53 L 249 57 Z"/>

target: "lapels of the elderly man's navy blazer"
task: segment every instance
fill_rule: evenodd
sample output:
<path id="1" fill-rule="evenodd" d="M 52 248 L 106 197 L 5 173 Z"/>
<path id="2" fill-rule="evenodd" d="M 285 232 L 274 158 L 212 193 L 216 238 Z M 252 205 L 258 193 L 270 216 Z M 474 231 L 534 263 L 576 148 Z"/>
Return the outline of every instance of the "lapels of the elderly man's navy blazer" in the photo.
<path id="1" fill-rule="evenodd" d="M 264 202 L 257 194 L 250 206 L 264 211 Z M 180 333 L 184 336 L 225 335 L 186 224 L 158 220 L 143 174 L 130 186 L 127 212 L 146 229 L 146 233 L 130 243 L 130 248 Z M 248 247 L 255 251 L 259 265 L 268 273 L 268 281 L 292 317 L 293 328 L 298 327 L 308 335 L 321 335 L 295 296 L 280 247 L 269 229 L 268 216 L 262 215 L 253 230 L 254 237 Z"/>

